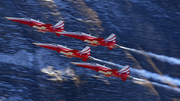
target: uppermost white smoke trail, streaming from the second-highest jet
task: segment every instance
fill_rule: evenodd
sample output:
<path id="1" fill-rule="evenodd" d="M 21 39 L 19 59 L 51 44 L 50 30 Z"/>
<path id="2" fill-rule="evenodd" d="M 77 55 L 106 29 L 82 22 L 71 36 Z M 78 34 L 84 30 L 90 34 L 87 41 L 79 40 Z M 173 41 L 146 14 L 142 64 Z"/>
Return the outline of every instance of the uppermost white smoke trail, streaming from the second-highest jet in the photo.
<path id="1" fill-rule="evenodd" d="M 162 62 L 168 62 L 171 65 L 180 65 L 180 59 L 177 59 L 177 58 L 174 58 L 174 57 L 168 57 L 168 56 L 164 56 L 164 55 L 157 55 L 157 54 L 154 54 L 154 53 L 151 53 L 151 52 L 143 52 L 143 51 L 140 51 L 140 50 L 127 48 L 127 47 L 123 47 L 123 46 L 119 46 L 119 45 L 117 45 L 117 46 L 119 48 L 126 49 L 126 50 L 129 50 L 129 51 L 133 51 L 133 52 L 136 52 L 136 53 L 149 55 L 149 56 L 151 56 L 153 58 L 156 58 L 156 59 L 158 59 L 158 60 L 160 60 Z"/>

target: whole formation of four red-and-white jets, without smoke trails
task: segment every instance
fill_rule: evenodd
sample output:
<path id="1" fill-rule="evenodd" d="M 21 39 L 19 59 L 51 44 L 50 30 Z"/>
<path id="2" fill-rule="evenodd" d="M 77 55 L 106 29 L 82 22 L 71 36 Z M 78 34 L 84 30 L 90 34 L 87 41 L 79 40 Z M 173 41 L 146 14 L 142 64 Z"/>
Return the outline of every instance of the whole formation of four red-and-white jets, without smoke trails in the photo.
<path id="1" fill-rule="evenodd" d="M 104 38 L 97 38 L 95 36 L 91 36 L 89 34 L 86 33 L 82 33 L 82 32 L 66 32 L 64 30 L 64 22 L 63 21 L 59 21 L 57 24 L 55 24 L 54 26 L 52 26 L 52 24 L 45 24 L 43 22 L 40 22 L 38 20 L 34 20 L 31 18 L 16 18 L 16 17 L 5 17 L 6 19 L 15 21 L 15 22 L 19 22 L 22 24 L 26 24 L 29 25 L 33 28 L 36 28 L 39 32 L 52 32 L 55 33 L 57 36 L 68 36 L 71 38 L 75 38 L 75 39 L 79 39 L 82 40 L 84 42 L 89 43 L 91 46 L 104 46 L 107 47 L 109 50 L 112 50 L 113 48 L 119 48 L 119 46 L 116 44 L 116 35 L 115 34 L 111 34 L 108 38 L 104 39 Z M 76 50 L 76 49 L 70 49 L 67 48 L 66 46 L 62 46 L 59 44 L 45 44 L 45 43 L 33 43 L 35 45 L 38 45 L 40 47 L 44 47 L 44 48 L 48 48 L 54 51 L 57 51 L 59 53 L 64 54 L 64 56 L 66 57 L 76 57 L 76 58 L 80 58 L 82 59 L 84 62 L 86 62 L 87 60 L 93 60 L 94 58 L 91 57 L 90 55 L 90 47 L 87 46 L 85 47 L 82 51 Z M 88 69 L 92 69 L 95 70 L 99 73 L 104 74 L 107 77 L 118 77 L 121 78 L 122 81 L 126 81 L 127 79 L 132 80 L 133 77 L 130 76 L 130 67 L 129 66 L 125 66 L 124 68 L 122 68 L 120 71 L 118 71 L 118 69 L 111 69 L 99 64 L 90 64 L 90 63 L 79 63 L 79 62 L 71 62 L 75 65 L 84 67 L 84 68 L 88 68 Z"/>

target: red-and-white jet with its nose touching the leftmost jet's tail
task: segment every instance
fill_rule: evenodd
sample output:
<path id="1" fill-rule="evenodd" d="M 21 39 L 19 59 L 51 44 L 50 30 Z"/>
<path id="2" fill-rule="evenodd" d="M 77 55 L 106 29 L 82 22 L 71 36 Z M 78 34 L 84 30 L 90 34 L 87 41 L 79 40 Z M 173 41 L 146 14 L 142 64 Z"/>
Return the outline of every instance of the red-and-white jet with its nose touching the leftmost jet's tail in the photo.
<path id="1" fill-rule="evenodd" d="M 58 35 L 59 34 L 59 35 Z M 104 38 L 97 38 L 95 36 L 91 36 L 85 33 L 81 32 L 56 32 L 56 35 L 64 35 L 64 36 L 69 36 L 72 38 L 80 39 L 84 42 L 88 42 L 92 46 L 105 46 L 109 50 L 112 50 L 113 48 L 119 48 L 116 44 L 116 35 L 111 34 L 107 39 Z"/>

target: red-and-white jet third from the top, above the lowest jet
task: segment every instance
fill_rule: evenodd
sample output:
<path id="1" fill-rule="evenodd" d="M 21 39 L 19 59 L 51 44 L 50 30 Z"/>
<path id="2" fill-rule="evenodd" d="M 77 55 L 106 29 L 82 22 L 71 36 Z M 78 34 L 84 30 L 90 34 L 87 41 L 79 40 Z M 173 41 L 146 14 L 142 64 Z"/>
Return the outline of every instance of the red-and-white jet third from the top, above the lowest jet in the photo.
<path id="1" fill-rule="evenodd" d="M 33 43 L 33 44 L 57 51 L 59 53 L 64 54 L 66 57 L 70 57 L 70 58 L 77 57 L 77 58 L 82 59 L 85 62 L 88 59 L 92 60 L 90 57 L 91 54 L 90 54 L 89 46 L 85 47 L 82 51 L 79 51 L 79 50 L 75 50 L 75 49 L 73 50 L 73 49 L 67 48 L 66 46 L 62 46 L 62 45 L 43 44 L 43 43 Z"/>

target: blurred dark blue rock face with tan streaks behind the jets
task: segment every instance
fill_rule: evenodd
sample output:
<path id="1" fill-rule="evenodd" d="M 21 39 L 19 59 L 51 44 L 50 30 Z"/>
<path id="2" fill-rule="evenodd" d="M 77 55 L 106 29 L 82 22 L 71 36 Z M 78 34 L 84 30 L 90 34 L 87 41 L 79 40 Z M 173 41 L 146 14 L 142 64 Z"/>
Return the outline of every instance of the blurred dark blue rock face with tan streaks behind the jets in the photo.
<path id="1" fill-rule="evenodd" d="M 178 0 L 1 0 L 0 100 L 178 100 L 179 92 L 171 89 L 140 82 L 122 82 L 118 78 L 107 78 L 92 70 L 71 65 L 70 62 L 82 61 L 61 57 L 55 51 L 32 43 L 57 43 L 81 50 L 86 46 L 85 42 L 65 36 L 57 37 L 54 33 L 36 32 L 29 26 L 3 17 L 29 17 L 52 24 L 64 20 L 66 31 L 81 31 L 103 38 L 114 33 L 117 44 L 121 46 L 179 59 L 179 9 Z M 128 50 L 110 51 L 98 46 L 91 47 L 91 55 L 180 78 L 179 65 Z M 179 88 L 171 82 L 166 85 Z"/>

